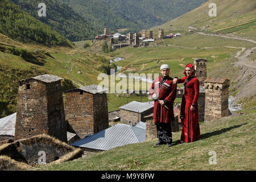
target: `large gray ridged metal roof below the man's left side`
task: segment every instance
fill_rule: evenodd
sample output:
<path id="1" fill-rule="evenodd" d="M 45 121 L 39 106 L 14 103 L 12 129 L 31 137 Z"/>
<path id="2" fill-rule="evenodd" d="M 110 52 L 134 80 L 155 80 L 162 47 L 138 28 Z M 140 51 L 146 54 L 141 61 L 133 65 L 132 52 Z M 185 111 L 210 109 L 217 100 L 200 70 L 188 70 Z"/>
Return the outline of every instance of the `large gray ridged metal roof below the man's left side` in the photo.
<path id="1" fill-rule="evenodd" d="M 126 144 L 143 142 L 144 140 L 146 140 L 146 130 L 118 123 L 70 145 L 97 150 L 110 150 Z"/>

